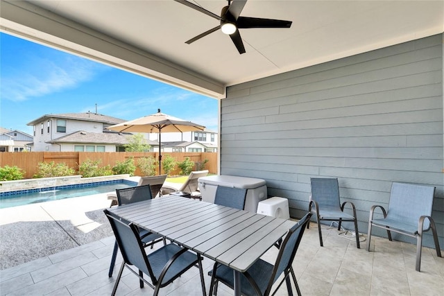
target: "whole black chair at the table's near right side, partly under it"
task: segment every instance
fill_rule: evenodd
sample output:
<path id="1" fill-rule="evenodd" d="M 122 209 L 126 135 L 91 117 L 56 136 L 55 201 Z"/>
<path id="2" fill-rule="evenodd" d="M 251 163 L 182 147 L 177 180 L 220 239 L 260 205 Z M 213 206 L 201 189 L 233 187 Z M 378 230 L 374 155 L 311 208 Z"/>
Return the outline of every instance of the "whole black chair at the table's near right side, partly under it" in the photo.
<path id="1" fill-rule="evenodd" d="M 291 227 L 287 236 L 280 247 L 278 258 L 275 264 L 268 263 L 262 259 L 256 261 L 248 270 L 241 273 L 241 294 L 247 296 L 264 295 L 268 296 L 271 293 L 273 284 L 278 280 L 282 272 L 284 272 L 284 279 L 280 281 L 280 284 L 275 288 L 275 292 L 280 288 L 282 283 L 286 281 L 287 291 L 289 295 L 293 295 L 291 288 L 290 275 L 293 278 L 294 285 L 298 295 L 300 289 L 296 276 L 294 275 L 291 264 L 293 263 L 294 256 L 298 250 L 302 234 L 304 234 L 305 227 L 309 223 L 311 213 L 307 213 L 300 221 Z M 213 270 L 208 273 L 211 275 L 210 295 L 214 291 L 214 295 L 217 294 L 217 286 L 219 281 L 230 288 L 234 286 L 233 270 L 226 265 L 215 263 Z"/>

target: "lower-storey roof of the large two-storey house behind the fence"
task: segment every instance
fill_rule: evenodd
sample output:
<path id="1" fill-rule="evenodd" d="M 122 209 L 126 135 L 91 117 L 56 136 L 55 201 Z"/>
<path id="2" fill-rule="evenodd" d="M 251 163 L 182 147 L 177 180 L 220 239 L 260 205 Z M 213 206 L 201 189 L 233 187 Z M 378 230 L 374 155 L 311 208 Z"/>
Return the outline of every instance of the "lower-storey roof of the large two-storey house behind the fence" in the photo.
<path id="1" fill-rule="evenodd" d="M 131 136 L 130 133 L 122 132 L 85 132 L 79 130 L 78 132 L 73 132 L 67 134 L 64 137 L 48 141 L 48 143 L 96 143 L 96 144 L 114 144 L 117 146 L 128 144 L 128 137 Z M 158 146 L 156 141 L 147 141 L 151 146 Z"/>

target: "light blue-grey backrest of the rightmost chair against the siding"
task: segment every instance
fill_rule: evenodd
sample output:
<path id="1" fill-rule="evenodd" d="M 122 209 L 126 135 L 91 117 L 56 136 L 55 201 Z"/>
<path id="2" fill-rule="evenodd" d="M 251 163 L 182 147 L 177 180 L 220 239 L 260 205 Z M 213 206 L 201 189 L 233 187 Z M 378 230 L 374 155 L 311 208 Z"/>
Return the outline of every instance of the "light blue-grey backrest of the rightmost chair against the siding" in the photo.
<path id="1" fill-rule="evenodd" d="M 420 216 L 432 216 L 434 186 L 393 182 L 387 217 L 417 224 Z M 425 219 L 424 229 L 429 229 L 430 221 Z"/>

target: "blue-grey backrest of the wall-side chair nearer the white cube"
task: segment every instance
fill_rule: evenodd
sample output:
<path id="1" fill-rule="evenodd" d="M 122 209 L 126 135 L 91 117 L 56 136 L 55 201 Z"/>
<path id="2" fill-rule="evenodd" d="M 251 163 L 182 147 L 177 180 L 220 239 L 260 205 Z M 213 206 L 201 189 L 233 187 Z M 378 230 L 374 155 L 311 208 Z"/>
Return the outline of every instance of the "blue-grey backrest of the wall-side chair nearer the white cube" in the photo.
<path id="1" fill-rule="evenodd" d="M 337 178 L 311 178 L 311 200 L 319 207 L 341 207 Z"/>

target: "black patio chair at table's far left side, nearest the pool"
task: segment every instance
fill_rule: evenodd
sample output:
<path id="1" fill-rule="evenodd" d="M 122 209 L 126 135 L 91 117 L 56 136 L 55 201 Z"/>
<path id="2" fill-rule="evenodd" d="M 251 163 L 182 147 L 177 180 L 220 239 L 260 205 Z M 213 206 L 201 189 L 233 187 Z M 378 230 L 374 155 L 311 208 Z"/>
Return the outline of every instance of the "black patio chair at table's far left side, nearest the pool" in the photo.
<path id="1" fill-rule="evenodd" d="M 130 204 L 133 202 L 142 202 L 143 200 L 151 200 L 151 198 L 153 198 L 151 185 L 149 184 L 123 188 L 123 189 L 116 189 L 116 193 L 117 193 L 117 203 L 119 204 L 119 206 L 122 204 Z M 148 232 L 145 229 L 139 229 L 139 236 L 140 239 L 142 240 L 142 245 L 144 247 L 151 246 L 151 249 L 153 248 L 153 245 L 155 243 L 158 243 L 160 241 L 164 241 L 164 244 L 167 243 L 165 241 L 165 238 L 162 238 L 162 236 L 160 236 L 159 234 L 153 234 L 152 232 Z M 112 277 L 112 272 L 114 271 L 116 258 L 117 258 L 117 241 L 116 243 L 114 243 L 114 250 L 112 252 L 108 277 Z"/>

